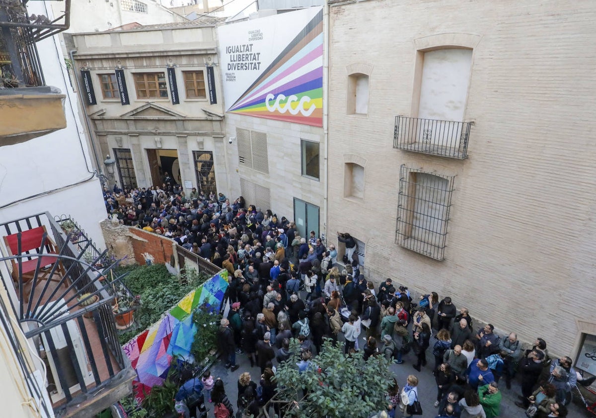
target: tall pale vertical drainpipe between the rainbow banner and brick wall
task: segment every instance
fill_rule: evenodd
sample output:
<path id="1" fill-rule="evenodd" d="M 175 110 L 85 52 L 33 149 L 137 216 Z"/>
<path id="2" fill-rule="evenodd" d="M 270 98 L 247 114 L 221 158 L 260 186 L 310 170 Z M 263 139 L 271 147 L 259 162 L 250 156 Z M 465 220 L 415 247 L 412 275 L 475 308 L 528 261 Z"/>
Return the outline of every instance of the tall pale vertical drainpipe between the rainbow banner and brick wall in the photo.
<path id="1" fill-rule="evenodd" d="M 329 5 L 325 2 L 323 6 L 323 161 L 325 164 L 323 170 L 323 211 L 325 219 L 325 246 L 329 241 L 329 219 L 328 219 L 328 194 L 329 194 L 329 45 L 330 45 L 330 26 L 329 26 Z"/>

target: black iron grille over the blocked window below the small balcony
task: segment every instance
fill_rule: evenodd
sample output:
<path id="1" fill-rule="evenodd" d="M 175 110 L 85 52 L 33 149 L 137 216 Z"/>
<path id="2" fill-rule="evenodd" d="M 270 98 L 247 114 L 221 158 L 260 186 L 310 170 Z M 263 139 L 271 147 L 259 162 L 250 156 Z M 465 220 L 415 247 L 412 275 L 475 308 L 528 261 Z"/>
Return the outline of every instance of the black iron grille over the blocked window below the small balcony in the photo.
<path id="1" fill-rule="evenodd" d="M 396 225 L 399 245 L 436 260 L 444 258 L 454 179 L 401 166 Z"/>

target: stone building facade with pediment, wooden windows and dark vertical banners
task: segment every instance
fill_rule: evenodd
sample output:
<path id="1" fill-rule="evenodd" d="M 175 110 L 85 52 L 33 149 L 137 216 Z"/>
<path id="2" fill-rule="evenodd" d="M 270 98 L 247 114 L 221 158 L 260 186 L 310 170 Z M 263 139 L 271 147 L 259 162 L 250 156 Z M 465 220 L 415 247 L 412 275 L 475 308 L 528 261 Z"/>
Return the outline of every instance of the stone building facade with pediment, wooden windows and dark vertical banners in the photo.
<path id="1" fill-rule="evenodd" d="M 158 24 L 73 36 L 95 147 L 116 160 L 122 187 L 228 190 L 224 114 L 213 22 Z M 123 91 L 122 84 L 125 84 Z"/>

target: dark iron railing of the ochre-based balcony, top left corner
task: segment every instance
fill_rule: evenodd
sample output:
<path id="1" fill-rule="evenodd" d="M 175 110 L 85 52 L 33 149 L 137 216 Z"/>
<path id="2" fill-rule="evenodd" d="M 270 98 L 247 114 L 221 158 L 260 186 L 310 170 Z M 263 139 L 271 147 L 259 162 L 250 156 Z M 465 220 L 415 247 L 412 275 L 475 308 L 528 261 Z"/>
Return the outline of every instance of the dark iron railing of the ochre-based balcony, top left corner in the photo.
<path id="1" fill-rule="evenodd" d="M 45 85 L 36 42 L 70 26 L 70 0 L 54 20 L 27 13 L 28 0 L 0 1 L 0 88 Z"/>

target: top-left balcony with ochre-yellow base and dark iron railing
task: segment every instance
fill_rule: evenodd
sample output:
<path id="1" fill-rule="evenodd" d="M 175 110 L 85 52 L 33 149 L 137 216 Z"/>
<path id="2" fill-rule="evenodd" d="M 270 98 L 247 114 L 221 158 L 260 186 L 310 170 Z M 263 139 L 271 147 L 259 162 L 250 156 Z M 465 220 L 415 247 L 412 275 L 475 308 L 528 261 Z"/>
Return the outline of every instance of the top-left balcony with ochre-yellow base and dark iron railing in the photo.
<path id="1" fill-rule="evenodd" d="M 45 86 L 36 42 L 69 27 L 70 0 L 54 21 L 29 16 L 26 0 L 0 2 L 0 146 L 66 128 L 65 95 Z"/>

